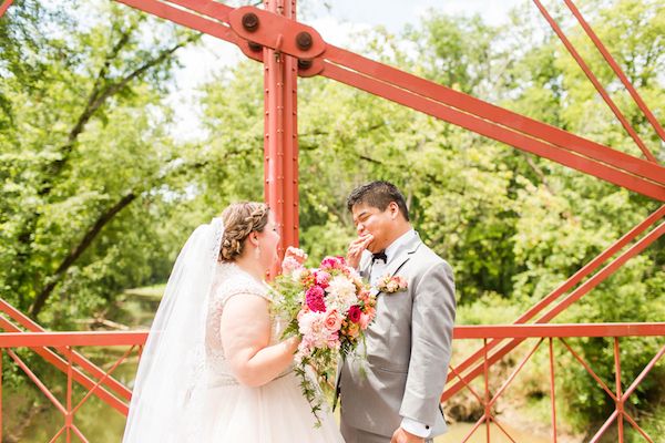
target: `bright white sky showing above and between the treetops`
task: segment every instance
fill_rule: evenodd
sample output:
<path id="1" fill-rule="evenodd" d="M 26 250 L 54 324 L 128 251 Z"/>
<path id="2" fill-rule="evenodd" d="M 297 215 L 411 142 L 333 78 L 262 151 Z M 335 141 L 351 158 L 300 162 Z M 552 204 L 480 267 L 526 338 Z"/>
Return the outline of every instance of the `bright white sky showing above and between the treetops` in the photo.
<path id="1" fill-rule="evenodd" d="M 349 47 L 350 37 L 377 25 L 399 33 L 407 23 L 417 24 L 427 11 L 433 9 L 450 14 L 480 14 L 489 24 L 501 24 L 508 12 L 530 0 L 311 0 L 304 20 L 315 28 L 328 43 Z M 232 43 L 206 35 L 203 44 L 186 48 L 178 54 L 183 68 L 176 72 L 175 86 L 168 97 L 176 113 L 173 134 L 186 134 L 186 138 L 203 137 L 198 126 L 196 89 L 213 79 L 223 66 L 237 63 L 244 58 Z"/>

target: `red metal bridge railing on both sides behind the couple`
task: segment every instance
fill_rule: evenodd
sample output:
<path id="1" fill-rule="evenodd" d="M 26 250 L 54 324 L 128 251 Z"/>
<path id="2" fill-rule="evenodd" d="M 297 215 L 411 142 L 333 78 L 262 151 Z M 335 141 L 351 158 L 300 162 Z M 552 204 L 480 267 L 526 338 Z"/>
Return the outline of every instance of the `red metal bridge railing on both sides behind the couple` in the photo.
<path id="1" fill-rule="evenodd" d="M 129 356 L 134 352 L 139 353 L 145 343 L 147 333 L 143 332 L 47 332 L 47 331 L 24 331 L 18 328 L 12 322 L 8 321 L 2 315 L 0 315 L 0 329 L 8 331 L 0 333 L 0 441 L 2 441 L 2 358 L 7 354 L 9 358 L 6 359 L 10 364 L 16 364 L 37 387 L 38 389 L 52 402 L 53 406 L 57 408 L 62 414 L 62 426 L 51 439 L 51 442 L 61 441 L 64 439 L 66 442 L 72 441 L 75 435 L 79 441 L 86 442 L 88 440 L 75 424 L 75 414 L 80 408 L 92 396 L 95 395 L 106 404 L 111 405 L 119 413 L 126 415 L 129 400 L 131 399 L 131 391 L 122 383 L 113 379 L 113 372 L 122 364 Z M 615 383 L 611 389 L 593 370 L 592 364 L 584 361 L 584 359 L 576 352 L 570 344 L 567 339 L 570 338 L 583 338 L 583 337 L 604 337 L 613 340 L 614 343 L 614 372 Z M 630 337 L 657 337 L 664 339 L 663 347 L 653 356 L 648 364 L 642 370 L 642 372 L 631 380 L 627 388 L 626 381 L 622 379 L 621 371 L 621 340 Z M 552 442 L 556 442 L 557 439 L 557 410 L 556 410 L 556 389 L 555 389 L 555 375 L 557 373 L 556 357 L 554 353 L 554 346 L 561 346 L 566 352 L 570 352 L 574 360 L 579 362 L 598 384 L 598 389 L 604 390 L 607 395 L 614 401 L 615 410 L 607 418 L 605 423 L 597 430 L 591 442 L 597 442 L 600 437 L 610 429 L 610 426 L 616 422 L 618 426 L 618 441 L 624 441 L 624 427 L 630 424 L 634 427 L 647 442 L 654 440 L 646 434 L 644 430 L 638 425 L 637 420 L 633 418 L 625 408 L 628 398 L 635 392 L 635 389 L 645 380 L 649 374 L 649 371 L 658 362 L 658 360 L 665 353 L 665 322 L 663 323 L 593 323 L 593 324 L 497 324 L 497 326 L 459 326 L 454 329 L 454 344 L 453 349 L 460 349 L 466 346 L 463 341 L 467 340 L 481 340 L 483 344 L 484 356 L 479 364 L 482 367 L 482 383 L 479 389 L 478 383 L 464 382 L 464 388 L 471 392 L 471 394 L 482 405 L 483 414 L 475 422 L 468 435 L 462 440 L 468 441 L 474 433 L 482 432 L 484 427 L 485 441 L 490 442 L 491 433 L 490 427 L 493 425 L 498 427 L 501 433 L 509 441 L 515 441 L 508 426 L 505 426 L 501 419 L 495 413 L 495 405 L 498 399 L 503 395 L 507 389 L 511 385 L 518 374 L 523 370 L 524 365 L 534 356 L 538 349 L 546 348 L 549 351 L 550 362 L 550 400 L 551 400 L 551 424 L 552 424 Z M 530 350 L 522 354 L 521 361 L 516 363 L 505 380 L 501 381 L 500 388 L 494 390 L 490 389 L 490 381 L 492 380 L 492 372 L 490 368 L 492 365 L 491 354 L 488 351 L 488 340 L 530 340 L 534 339 L 535 344 L 531 346 Z M 532 344 L 532 343 L 526 343 Z M 543 346 L 544 344 L 544 346 Z M 80 348 L 92 348 L 92 347 L 119 347 L 127 348 L 120 358 L 106 361 L 105 364 L 110 364 L 108 370 L 103 370 L 100 367 L 92 363 L 82 353 L 79 352 Z M 17 354 L 18 349 L 31 349 L 33 352 L 39 354 L 49 363 L 53 364 L 59 369 L 63 377 L 66 379 L 66 392 L 64 401 L 58 400 L 53 394 L 52 390 L 40 380 L 40 378 L 25 364 L 25 362 Z M 469 370 L 473 370 L 471 367 Z M 450 372 L 456 379 L 464 380 L 463 371 L 458 371 L 454 365 L 450 367 Z M 81 400 L 74 402 L 73 399 L 73 383 L 78 383 L 84 390 L 85 394 Z M 79 393 L 80 396 L 80 393 Z M 627 422 L 627 423 L 626 423 Z M 484 425 L 484 426 L 483 426 Z"/>

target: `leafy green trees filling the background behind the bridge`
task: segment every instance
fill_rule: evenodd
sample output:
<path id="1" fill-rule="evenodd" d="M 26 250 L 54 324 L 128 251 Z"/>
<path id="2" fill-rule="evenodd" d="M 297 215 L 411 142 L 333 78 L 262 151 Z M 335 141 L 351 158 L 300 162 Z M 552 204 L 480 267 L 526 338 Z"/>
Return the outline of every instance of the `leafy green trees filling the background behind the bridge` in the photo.
<path id="1" fill-rule="evenodd" d="M 229 202 L 263 198 L 260 65 L 221 71 L 201 91 L 207 137 L 175 141 L 165 99 L 177 49 L 197 35 L 124 7 L 74 3 L 17 0 L 0 20 L 0 297 L 53 329 L 104 316 L 124 289 L 165 281 L 194 226 Z M 661 3 L 593 0 L 582 12 L 663 122 Z M 665 144 L 582 29 L 555 12 L 663 162 Z M 516 9 L 509 27 L 433 10 L 400 34 L 377 29 L 357 44 L 376 60 L 642 155 L 532 6 Z M 423 240 L 453 266 L 462 322 L 513 320 L 659 207 L 341 84 L 301 79 L 298 94 L 303 248 L 313 261 L 342 253 L 355 234 L 347 194 L 389 179 Z M 555 321 L 665 318 L 664 241 Z M 574 346 L 611 383 L 613 343 Z M 655 346 L 622 348 L 626 380 Z M 585 429 L 606 418 L 608 398 L 581 368 L 563 377 L 571 422 Z M 662 414 L 663 380 L 656 365 L 633 394 L 641 411 L 654 404 Z"/>

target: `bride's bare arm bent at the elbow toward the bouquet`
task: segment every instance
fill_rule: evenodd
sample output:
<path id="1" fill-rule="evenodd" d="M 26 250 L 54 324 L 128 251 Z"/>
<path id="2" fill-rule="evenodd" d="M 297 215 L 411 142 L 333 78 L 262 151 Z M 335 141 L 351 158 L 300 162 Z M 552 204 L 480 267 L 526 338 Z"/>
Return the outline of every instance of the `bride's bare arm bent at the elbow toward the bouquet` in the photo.
<path id="1" fill-rule="evenodd" d="M 221 333 L 233 374 L 248 387 L 260 387 L 279 375 L 299 343 L 294 337 L 270 346 L 268 302 L 252 295 L 238 295 L 225 303 Z"/>

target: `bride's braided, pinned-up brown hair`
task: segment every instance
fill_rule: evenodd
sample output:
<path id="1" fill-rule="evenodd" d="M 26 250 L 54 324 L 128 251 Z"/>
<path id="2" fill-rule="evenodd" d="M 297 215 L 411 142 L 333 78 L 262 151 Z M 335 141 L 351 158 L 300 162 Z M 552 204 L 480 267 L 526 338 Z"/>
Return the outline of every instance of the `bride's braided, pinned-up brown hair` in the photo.
<path id="1" fill-rule="evenodd" d="M 268 224 L 268 205 L 256 202 L 234 203 L 224 209 L 219 261 L 233 261 L 243 254 L 247 236 L 263 231 Z"/>

